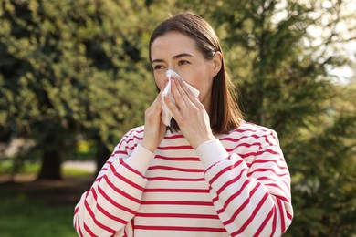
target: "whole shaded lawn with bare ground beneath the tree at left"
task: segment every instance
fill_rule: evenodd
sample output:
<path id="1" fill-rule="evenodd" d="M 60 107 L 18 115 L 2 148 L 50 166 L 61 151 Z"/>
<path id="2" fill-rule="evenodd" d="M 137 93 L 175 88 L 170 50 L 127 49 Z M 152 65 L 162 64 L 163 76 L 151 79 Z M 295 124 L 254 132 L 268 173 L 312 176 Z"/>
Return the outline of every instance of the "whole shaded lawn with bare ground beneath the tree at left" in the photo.
<path id="1" fill-rule="evenodd" d="M 78 236 L 72 224 L 73 210 L 80 194 L 89 188 L 92 175 L 80 170 L 64 173 L 61 181 L 0 183 L 2 237 Z M 28 169 L 26 176 L 31 177 Z"/>

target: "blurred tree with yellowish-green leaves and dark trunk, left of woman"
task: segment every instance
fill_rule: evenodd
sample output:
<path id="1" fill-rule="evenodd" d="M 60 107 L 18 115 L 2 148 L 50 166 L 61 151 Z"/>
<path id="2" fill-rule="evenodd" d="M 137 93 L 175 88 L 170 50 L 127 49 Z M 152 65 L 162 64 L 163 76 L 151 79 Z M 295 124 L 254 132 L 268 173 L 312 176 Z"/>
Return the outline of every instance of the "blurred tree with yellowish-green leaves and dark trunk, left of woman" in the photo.
<path id="1" fill-rule="evenodd" d="M 43 152 L 38 178 L 60 179 L 77 134 L 108 153 L 141 124 L 155 88 L 141 55 L 147 29 L 135 8 L 143 13 L 146 6 L 2 1 L 0 126 L 36 140 Z"/>

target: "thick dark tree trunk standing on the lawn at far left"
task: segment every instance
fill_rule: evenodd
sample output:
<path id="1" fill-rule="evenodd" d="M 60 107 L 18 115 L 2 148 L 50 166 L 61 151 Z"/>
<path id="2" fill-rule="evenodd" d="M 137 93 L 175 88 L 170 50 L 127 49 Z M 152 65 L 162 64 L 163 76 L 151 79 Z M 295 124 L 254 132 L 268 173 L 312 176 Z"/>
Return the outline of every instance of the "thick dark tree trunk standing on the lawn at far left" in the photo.
<path id="1" fill-rule="evenodd" d="M 45 150 L 37 180 L 61 180 L 62 158 L 56 150 Z"/>

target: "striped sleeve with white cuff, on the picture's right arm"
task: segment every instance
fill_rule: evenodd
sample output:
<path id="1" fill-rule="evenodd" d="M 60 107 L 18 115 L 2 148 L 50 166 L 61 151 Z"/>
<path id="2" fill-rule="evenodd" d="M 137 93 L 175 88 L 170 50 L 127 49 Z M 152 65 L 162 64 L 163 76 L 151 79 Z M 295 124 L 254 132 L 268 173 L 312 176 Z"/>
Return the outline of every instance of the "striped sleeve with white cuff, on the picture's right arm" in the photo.
<path id="1" fill-rule="evenodd" d="M 244 154 L 228 154 L 218 139 L 196 150 L 215 210 L 231 236 L 280 236 L 292 221 L 288 167 L 277 134 L 271 131 L 266 140 Z"/>

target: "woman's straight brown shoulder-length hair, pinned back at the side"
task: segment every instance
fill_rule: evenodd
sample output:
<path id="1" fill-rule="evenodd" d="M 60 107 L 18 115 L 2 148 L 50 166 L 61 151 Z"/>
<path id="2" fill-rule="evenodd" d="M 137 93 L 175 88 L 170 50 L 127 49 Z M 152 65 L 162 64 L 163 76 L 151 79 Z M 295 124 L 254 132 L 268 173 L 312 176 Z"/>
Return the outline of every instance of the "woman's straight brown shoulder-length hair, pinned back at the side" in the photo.
<path id="1" fill-rule="evenodd" d="M 207 60 L 212 60 L 215 52 L 222 53 L 219 39 L 212 26 L 199 15 L 184 13 L 173 15 L 153 31 L 149 45 L 150 61 L 153 41 L 171 31 L 193 38 Z M 210 126 L 215 133 L 226 133 L 236 129 L 242 120 L 241 111 L 237 106 L 236 88 L 226 71 L 224 57 L 222 67 L 214 78 L 210 108 Z M 171 120 L 170 128 L 179 130 L 174 119 Z"/>

